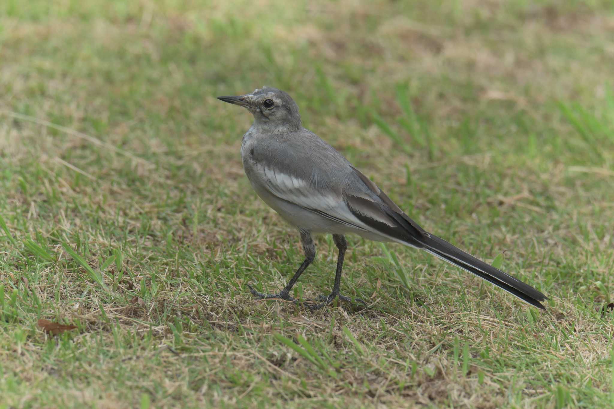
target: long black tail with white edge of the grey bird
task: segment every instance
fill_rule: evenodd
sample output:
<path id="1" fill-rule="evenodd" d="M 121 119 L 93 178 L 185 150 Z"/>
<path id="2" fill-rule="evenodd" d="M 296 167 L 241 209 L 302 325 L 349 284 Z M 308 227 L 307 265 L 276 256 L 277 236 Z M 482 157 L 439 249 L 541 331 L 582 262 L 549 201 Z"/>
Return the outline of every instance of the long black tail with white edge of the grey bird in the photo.
<path id="1" fill-rule="evenodd" d="M 424 246 L 424 250 L 437 256 L 440 259 L 448 261 L 454 266 L 461 267 L 461 269 L 468 271 L 478 277 L 484 278 L 484 280 L 495 286 L 504 289 L 510 294 L 515 295 L 519 299 L 535 305 L 537 308 L 546 308 L 540 303 L 548 299 L 541 292 L 537 291 L 530 285 L 516 280 L 516 278 L 507 275 L 490 264 L 487 264 L 479 259 L 476 259 L 469 253 L 465 253 L 459 248 L 454 247 L 446 240 L 440 239 L 436 235 L 429 234 L 426 237 L 420 237 L 418 242 Z"/>

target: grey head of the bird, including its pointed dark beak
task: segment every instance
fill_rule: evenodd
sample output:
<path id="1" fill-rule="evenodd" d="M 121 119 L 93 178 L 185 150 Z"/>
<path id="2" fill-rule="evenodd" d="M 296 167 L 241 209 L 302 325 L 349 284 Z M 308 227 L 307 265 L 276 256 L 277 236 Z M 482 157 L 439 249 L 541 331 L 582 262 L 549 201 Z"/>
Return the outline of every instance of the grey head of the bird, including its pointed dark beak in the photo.
<path id="1" fill-rule="evenodd" d="M 219 96 L 217 99 L 246 108 L 254 115 L 254 125 L 263 132 L 282 134 L 301 128 L 297 103 L 277 88 L 263 86 L 250 94 Z"/>

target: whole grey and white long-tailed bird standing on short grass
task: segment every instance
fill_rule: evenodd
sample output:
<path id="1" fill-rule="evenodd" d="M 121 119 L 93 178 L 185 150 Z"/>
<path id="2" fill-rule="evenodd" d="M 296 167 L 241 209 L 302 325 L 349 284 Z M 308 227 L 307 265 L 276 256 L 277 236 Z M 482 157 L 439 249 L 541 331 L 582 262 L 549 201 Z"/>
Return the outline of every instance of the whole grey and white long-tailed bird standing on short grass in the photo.
<path id="1" fill-rule="evenodd" d="M 541 303 L 548 298 L 542 292 L 411 220 L 341 153 L 303 128 L 298 105 L 285 91 L 263 86 L 249 94 L 217 99 L 244 107 L 254 115 L 254 123 L 241 141 L 243 169 L 258 196 L 298 229 L 305 252 L 305 260 L 281 291 L 265 294 L 247 284 L 255 297 L 296 302 L 290 290 L 314 261 L 313 235 L 332 234 L 338 248 L 335 282 L 328 296 L 319 297 L 322 303 L 317 307 L 333 304 L 335 299 L 351 301 L 340 294 L 341 270 L 348 249 L 345 236 L 357 234 L 425 250 L 545 310 Z M 354 300 L 364 304 L 361 299 Z"/>

